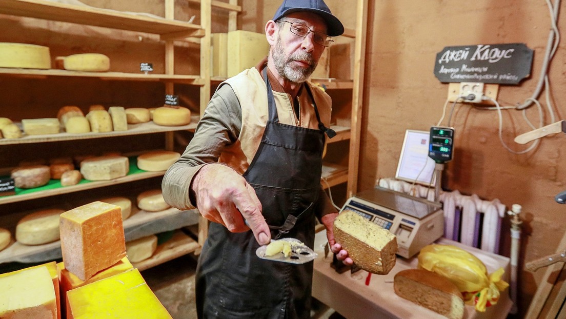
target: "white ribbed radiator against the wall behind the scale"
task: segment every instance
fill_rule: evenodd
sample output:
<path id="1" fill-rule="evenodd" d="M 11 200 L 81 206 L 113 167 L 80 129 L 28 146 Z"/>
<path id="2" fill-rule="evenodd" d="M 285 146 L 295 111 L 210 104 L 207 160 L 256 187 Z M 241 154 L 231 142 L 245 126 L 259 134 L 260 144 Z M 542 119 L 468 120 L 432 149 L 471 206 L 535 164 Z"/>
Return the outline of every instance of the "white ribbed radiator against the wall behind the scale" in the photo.
<path id="1" fill-rule="evenodd" d="M 378 185 L 434 201 L 434 189 L 426 186 L 393 178 L 380 178 Z M 505 205 L 499 199 L 485 201 L 478 195 L 462 195 L 454 190 L 441 192 L 439 202 L 443 203 L 445 238 L 486 252 L 499 252 L 501 219 L 505 216 Z"/>

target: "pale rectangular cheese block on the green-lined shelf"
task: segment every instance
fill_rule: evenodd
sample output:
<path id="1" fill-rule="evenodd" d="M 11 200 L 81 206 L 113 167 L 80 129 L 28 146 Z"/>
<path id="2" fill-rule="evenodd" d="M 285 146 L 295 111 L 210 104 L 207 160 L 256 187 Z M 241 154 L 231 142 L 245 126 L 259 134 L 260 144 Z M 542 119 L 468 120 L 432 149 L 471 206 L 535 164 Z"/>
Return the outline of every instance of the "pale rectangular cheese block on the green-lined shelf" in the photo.
<path id="1" fill-rule="evenodd" d="M 113 180 L 129 171 L 130 161 L 126 156 L 98 156 L 80 162 L 80 173 L 89 181 Z"/>

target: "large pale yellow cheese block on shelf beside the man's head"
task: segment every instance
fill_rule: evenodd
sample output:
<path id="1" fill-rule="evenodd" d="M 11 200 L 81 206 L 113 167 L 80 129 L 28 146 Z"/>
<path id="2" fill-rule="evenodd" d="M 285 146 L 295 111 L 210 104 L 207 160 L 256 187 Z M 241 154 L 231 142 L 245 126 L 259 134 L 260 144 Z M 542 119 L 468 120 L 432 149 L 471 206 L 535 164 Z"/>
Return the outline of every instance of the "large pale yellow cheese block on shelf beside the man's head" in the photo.
<path id="1" fill-rule="evenodd" d="M 264 33 L 243 30 L 228 32 L 228 48 L 228 77 L 258 65 L 269 53 L 269 43 Z"/>

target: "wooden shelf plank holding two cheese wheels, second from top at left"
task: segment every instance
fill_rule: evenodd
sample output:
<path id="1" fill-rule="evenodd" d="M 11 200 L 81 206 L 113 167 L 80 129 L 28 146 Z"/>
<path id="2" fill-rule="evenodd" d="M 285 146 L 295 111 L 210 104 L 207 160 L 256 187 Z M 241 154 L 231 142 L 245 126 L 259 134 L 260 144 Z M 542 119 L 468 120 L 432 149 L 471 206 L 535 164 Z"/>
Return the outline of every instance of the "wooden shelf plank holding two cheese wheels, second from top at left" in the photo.
<path id="1" fill-rule="evenodd" d="M 2 1 L 2 0 L 0 0 Z M 19 76 L 25 78 L 45 78 L 47 76 L 79 76 L 82 78 L 99 78 L 102 80 L 138 80 L 138 81 L 162 81 L 187 83 L 201 86 L 203 79 L 198 75 L 181 74 L 144 74 L 144 73 L 123 73 L 123 72 L 83 72 L 68 70 L 38 70 L 38 69 L 12 69 L 0 67 L 0 74 Z"/>

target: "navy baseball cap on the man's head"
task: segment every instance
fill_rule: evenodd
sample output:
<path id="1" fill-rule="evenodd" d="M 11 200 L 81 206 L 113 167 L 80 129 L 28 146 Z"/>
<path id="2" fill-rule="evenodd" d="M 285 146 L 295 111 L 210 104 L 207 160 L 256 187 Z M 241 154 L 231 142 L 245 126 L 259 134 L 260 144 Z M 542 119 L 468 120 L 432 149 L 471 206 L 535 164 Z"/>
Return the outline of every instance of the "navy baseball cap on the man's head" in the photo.
<path id="1" fill-rule="evenodd" d="M 332 15 L 330 9 L 323 0 L 283 0 L 281 6 L 275 12 L 273 21 L 277 21 L 292 12 L 308 11 L 318 14 L 324 19 L 328 28 L 329 36 L 339 36 L 344 33 L 344 25 Z"/>

